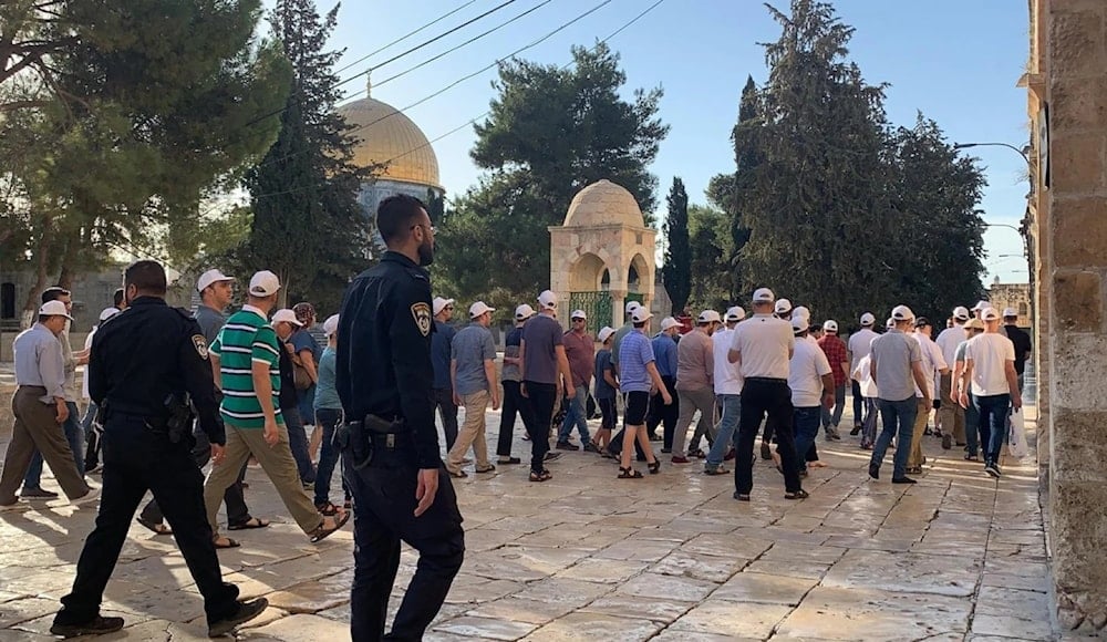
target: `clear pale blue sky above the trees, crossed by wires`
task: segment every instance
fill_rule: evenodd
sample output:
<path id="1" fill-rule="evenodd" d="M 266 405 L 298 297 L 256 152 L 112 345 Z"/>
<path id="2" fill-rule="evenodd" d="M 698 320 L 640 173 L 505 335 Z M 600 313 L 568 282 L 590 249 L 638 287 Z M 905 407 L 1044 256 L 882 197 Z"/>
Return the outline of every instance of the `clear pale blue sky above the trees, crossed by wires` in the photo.
<path id="1" fill-rule="evenodd" d="M 334 4 L 315 0 L 320 11 Z M 339 66 L 380 49 L 468 0 L 348 0 L 339 11 L 330 45 L 344 49 Z M 495 96 L 490 69 L 425 103 L 405 108 L 513 51 L 546 35 L 604 0 L 516 0 L 469 27 L 382 64 L 504 0 L 476 0 L 413 35 L 342 72 L 346 79 L 376 65 L 373 97 L 404 111 L 431 139 L 482 115 Z M 542 4 L 545 2 L 545 4 Z M 609 0 L 593 13 L 523 52 L 520 58 L 566 64 L 573 44 L 592 45 L 608 38 L 654 0 Z M 272 0 L 267 4 L 271 6 Z M 787 0 L 773 6 L 787 10 Z M 524 18 L 463 49 L 396 80 L 383 82 L 531 8 Z M 1026 91 L 1015 86 L 1027 59 L 1028 17 L 1025 0 L 834 0 L 841 20 L 856 28 L 849 56 L 867 82 L 887 83 L 886 110 L 896 125 L 910 126 L 922 112 L 954 143 L 999 142 L 1025 145 L 1028 130 Z M 687 187 L 692 203 L 704 203 L 710 178 L 734 170 L 730 134 L 737 117 L 746 76 L 767 76 L 759 42 L 779 37 L 779 25 L 761 1 L 662 0 L 610 41 L 627 73 L 625 95 L 637 87 L 664 90 L 660 116 L 671 125 L 651 170 L 659 177 L 659 203 L 674 176 Z M 364 77 L 344 89 L 361 97 Z M 479 170 L 469 159 L 472 125 L 434 143 L 447 195 L 464 193 Z M 984 236 L 985 284 L 1026 282 L 1026 262 L 1017 227 L 1025 211 L 1026 164 L 1004 147 L 976 147 L 989 185 L 981 208 L 990 227 Z M 663 214 L 663 213 L 662 213 Z M 659 217 L 661 218 L 661 217 Z"/>

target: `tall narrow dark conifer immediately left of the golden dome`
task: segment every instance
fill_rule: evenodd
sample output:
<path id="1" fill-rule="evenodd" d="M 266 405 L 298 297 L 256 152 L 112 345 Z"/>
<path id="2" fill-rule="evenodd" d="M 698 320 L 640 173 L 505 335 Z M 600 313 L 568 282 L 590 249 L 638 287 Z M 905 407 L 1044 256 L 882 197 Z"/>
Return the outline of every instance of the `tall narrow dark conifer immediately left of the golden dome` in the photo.
<path id="1" fill-rule="evenodd" d="M 339 7 L 320 17 L 311 0 L 280 0 L 272 37 L 292 65 L 292 91 L 277 142 L 246 185 L 254 222 L 244 248 L 251 270 L 273 271 L 283 302 L 337 309 L 349 276 L 362 269 L 369 225 L 358 204 L 366 172 L 353 165 L 355 139 L 335 113 L 341 51 L 324 51 Z"/>

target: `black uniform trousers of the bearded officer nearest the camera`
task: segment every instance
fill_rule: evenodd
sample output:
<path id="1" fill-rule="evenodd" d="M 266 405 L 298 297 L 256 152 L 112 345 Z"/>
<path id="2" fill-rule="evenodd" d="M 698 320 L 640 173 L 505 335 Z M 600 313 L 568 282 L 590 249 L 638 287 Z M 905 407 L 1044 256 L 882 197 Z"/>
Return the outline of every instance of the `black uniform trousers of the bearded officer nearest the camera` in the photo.
<path id="1" fill-rule="evenodd" d="M 373 435 L 373 457 L 358 470 L 350 449 L 343 451 L 343 477 L 353 494 L 354 574 L 350 591 L 350 634 L 353 642 L 422 640 L 438 614 L 454 576 L 465 557 L 465 532 L 457 496 L 446 468 L 438 468 L 434 504 L 414 516 L 418 467 L 410 446 L 386 447 Z M 418 566 L 392 631 L 385 635 L 389 597 L 400 568 L 400 542 L 418 551 Z"/>

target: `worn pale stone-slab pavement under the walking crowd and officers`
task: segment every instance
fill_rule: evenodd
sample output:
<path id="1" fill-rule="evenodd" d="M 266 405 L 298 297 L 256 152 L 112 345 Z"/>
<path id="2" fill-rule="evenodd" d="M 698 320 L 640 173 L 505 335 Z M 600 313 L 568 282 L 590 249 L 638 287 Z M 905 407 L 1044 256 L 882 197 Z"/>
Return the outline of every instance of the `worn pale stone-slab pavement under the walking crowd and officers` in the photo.
<path id="1" fill-rule="evenodd" d="M 492 444 L 498 421 L 488 413 Z M 552 463 L 546 484 L 526 466 L 455 480 L 468 551 L 427 640 L 1057 638 L 1033 456 L 996 482 L 928 437 L 925 473 L 904 487 L 870 482 L 853 437 L 818 446 L 829 467 L 805 501 L 785 501 L 765 462 L 749 504 L 732 499 L 732 476 L 668 457 L 639 480 L 583 453 Z M 251 511 L 276 524 L 235 534 L 242 548 L 219 557 L 244 597 L 272 607 L 239 636 L 348 640 L 350 527 L 310 545 L 263 473 L 247 479 Z M 0 641 L 48 639 L 93 517 L 64 500 L 0 515 Z M 414 563 L 405 550 L 393 609 Z M 174 542 L 137 525 L 106 600 L 127 628 L 103 640 L 205 639 Z"/>

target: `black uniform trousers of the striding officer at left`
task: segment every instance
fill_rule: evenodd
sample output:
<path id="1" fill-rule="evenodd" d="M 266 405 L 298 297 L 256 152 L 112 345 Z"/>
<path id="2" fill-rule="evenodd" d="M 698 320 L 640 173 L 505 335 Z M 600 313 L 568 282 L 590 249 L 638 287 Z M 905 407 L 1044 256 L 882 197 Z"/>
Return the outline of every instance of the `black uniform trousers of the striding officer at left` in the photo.
<path id="1" fill-rule="evenodd" d="M 100 613 L 131 519 L 146 490 L 165 511 L 185 563 L 204 596 L 208 623 L 238 611 L 238 588 L 224 583 L 204 508 L 204 476 L 187 443 L 172 444 L 143 417 L 114 413 L 104 425 L 104 486 L 96 527 L 84 542 L 73 590 L 54 622 L 83 624 Z"/>

